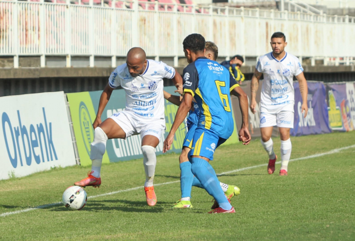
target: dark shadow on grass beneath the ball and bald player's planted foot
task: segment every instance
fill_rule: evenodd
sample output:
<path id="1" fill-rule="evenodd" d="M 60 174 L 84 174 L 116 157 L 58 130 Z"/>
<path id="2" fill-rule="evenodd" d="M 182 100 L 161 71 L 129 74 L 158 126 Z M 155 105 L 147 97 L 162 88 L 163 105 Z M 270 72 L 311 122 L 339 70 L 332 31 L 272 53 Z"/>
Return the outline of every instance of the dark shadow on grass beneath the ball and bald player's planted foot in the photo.
<path id="1" fill-rule="evenodd" d="M 110 206 L 107 206 L 105 203 L 110 203 Z M 117 204 L 117 205 L 112 205 Z M 146 212 L 146 213 L 157 213 L 162 212 L 162 204 L 167 204 L 164 202 L 158 202 L 156 206 L 149 207 L 146 202 L 136 202 L 136 201 L 127 201 L 127 200 L 103 200 L 103 201 L 88 201 L 86 205 L 80 211 L 108 211 L 108 210 L 117 210 L 122 212 Z M 64 206 L 48 207 L 43 209 L 49 209 L 53 212 L 62 212 L 68 211 Z"/>

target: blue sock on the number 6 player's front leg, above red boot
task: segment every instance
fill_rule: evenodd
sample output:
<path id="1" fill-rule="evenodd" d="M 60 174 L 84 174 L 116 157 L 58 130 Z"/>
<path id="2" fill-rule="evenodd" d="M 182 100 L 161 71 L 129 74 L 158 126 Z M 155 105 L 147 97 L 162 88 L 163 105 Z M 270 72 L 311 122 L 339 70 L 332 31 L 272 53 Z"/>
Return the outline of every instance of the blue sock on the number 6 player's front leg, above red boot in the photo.
<path id="1" fill-rule="evenodd" d="M 198 157 L 193 157 L 191 171 L 208 194 L 215 198 L 220 208 L 225 210 L 230 210 L 232 208 L 224 195 L 222 187 L 219 185 L 215 170 L 213 170 L 213 167 L 207 161 Z"/>

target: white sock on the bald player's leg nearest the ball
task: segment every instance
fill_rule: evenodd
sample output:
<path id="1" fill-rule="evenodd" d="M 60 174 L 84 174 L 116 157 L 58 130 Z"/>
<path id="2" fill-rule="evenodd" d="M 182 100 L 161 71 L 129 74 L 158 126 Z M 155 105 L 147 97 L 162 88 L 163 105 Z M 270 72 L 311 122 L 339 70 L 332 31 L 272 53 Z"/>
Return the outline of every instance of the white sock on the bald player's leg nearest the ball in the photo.
<path id="1" fill-rule="evenodd" d="M 96 178 L 100 177 L 102 157 L 105 154 L 106 142 L 108 138 L 106 133 L 99 127 L 94 130 L 94 141 L 91 143 L 90 159 L 92 160 L 91 170 Z"/>

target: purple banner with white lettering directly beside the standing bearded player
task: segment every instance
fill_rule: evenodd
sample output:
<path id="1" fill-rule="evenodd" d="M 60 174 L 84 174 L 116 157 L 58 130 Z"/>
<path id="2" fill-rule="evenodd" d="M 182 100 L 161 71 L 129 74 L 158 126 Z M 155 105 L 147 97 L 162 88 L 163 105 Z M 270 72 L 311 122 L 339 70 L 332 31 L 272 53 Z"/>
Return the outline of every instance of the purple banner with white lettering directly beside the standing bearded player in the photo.
<path id="1" fill-rule="evenodd" d="M 308 114 L 306 118 L 304 118 L 301 113 L 302 96 L 299 92 L 299 85 L 298 82 L 294 82 L 295 119 L 294 129 L 291 129 L 290 133 L 293 136 L 330 133 L 332 130 L 329 127 L 328 121 L 325 86 L 322 82 L 307 81 L 307 84 Z"/>

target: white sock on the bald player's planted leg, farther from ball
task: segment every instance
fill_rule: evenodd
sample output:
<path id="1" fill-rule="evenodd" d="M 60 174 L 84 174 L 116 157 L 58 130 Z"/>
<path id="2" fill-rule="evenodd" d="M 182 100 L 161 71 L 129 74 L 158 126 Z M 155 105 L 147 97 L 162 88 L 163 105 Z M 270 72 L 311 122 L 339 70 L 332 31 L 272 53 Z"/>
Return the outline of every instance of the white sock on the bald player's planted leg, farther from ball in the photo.
<path id="1" fill-rule="evenodd" d="M 157 156 L 155 148 L 152 146 L 142 146 L 143 165 L 145 171 L 145 184 L 144 186 L 153 186 L 155 167 L 157 165 Z"/>

